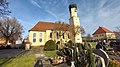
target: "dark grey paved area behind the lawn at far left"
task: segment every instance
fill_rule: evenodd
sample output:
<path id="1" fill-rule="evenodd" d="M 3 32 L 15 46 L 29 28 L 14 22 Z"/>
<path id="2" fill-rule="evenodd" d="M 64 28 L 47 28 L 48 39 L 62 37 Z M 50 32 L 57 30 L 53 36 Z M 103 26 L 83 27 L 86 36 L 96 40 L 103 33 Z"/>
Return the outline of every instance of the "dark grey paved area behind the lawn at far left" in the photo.
<path id="1" fill-rule="evenodd" d="M 22 51 L 23 51 L 22 49 L 3 49 L 0 50 L 0 58 L 15 57 L 16 55 L 20 54 Z"/>

